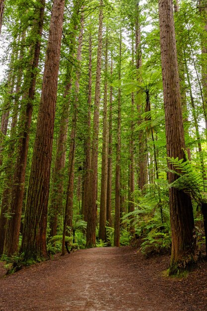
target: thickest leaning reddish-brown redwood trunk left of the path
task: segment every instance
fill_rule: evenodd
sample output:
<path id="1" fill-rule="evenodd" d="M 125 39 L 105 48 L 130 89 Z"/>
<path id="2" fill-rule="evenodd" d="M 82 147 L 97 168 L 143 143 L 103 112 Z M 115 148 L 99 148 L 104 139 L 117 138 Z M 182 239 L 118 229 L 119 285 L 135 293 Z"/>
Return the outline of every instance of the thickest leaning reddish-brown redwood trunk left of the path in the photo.
<path id="1" fill-rule="evenodd" d="M 21 252 L 46 258 L 47 209 L 65 0 L 54 0 L 32 157 Z"/>

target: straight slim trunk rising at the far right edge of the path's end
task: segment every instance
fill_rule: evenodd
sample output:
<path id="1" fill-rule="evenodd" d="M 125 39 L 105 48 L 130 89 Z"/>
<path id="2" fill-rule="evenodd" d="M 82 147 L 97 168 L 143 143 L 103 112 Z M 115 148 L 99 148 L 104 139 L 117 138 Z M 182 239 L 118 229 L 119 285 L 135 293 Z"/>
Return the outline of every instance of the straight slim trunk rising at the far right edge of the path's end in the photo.
<path id="1" fill-rule="evenodd" d="M 119 64 L 118 73 L 121 82 L 122 64 L 122 29 L 119 38 Z M 121 165 L 121 86 L 118 89 L 118 121 L 117 121 L 117 153 L 116 153 L 116 179 L 115 179 L 115 222 L 114 222 L 114 246 L 120 246 L 120 165 Z"/>

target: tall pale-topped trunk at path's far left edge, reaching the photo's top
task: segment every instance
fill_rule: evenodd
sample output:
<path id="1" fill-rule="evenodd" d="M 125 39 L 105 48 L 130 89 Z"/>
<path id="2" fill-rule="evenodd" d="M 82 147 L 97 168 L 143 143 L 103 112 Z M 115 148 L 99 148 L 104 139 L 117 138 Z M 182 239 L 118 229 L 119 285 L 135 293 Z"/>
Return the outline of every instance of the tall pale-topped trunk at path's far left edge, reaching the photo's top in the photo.
<path id="1" fill-rule="evenodd" d="M 96 246 L 96 196 L 97 196 L 97 172 L 98 172 L 98 133 L 99 133 L 99 106 L 100 106 L 100 82 L 101 82 L 101 52 L 102 52 L 102 29 L 103 29 L 103 0 L 100 0 L 98 51 L 96 67 L 96 83 L 93 114 L 93 137 L 91 152 L 91 172 L 87 206 L 87 231 L 86 246 Z"/>

